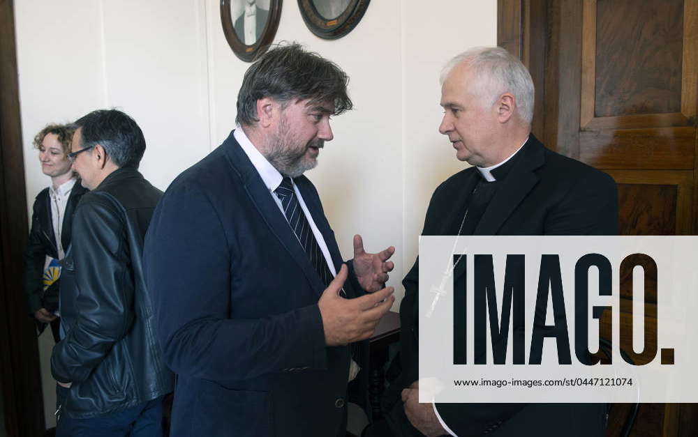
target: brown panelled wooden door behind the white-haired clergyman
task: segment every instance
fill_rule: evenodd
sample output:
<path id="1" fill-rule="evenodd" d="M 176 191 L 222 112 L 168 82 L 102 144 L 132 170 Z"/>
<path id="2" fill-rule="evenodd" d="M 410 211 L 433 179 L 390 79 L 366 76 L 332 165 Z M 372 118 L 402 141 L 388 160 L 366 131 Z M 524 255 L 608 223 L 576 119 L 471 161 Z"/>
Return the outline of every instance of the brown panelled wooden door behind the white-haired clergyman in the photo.
<path id="1" fill-rule="evenodd" d="M 499 0 L 498 6 L 498 44 L 520 56 L 536 86 L 534 134 L 614 177 L 622 235 L 695 234 L 698 0 Z M 650 309 L 655 302 L 646 300 Z M 621 302 L 621 323 L 630 318 L 623 312 L 629 304 Z M 646 326 L 653 323 L 646 317 Z M 627 410 L 614 406 L 608 436 L 618 435 Z M 643 404 L 633 430 L 632 436 L 694 436 L 697 408 Z"/>

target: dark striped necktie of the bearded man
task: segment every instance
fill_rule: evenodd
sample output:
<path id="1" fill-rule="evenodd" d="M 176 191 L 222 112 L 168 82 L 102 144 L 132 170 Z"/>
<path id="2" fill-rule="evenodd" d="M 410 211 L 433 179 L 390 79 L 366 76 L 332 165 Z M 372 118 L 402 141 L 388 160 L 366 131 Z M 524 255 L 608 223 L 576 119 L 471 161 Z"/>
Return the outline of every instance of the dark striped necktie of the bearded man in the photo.
<path id="1" fill-rule="evenodd" d="M 281 185 L 279 185 L 274 192 L 281 200 L 283 214 L 286 216 L 286 220 L 288 220 L 288 224 L 290 225 L 291 229 L 293 229 L 293 233 L 296 234 L 298 242 L 308 255 L 311 264 L 313 264 L 313 267 L 315 268 L 315 271 L 318 272 L 318 275 L 320 275 L 322 284 L 328 286 L 334 277 L 329 271 L 327 261 L 325 260 L 325 256 L 322 254 L 322 250 L 320 250 L 318 241 L 315 240 L 313 229 L 311 229 L 310 223 L 308 222 L 308 219 L 298 203 L 296 193 L 293 191 L 293 182 L 291 181 L 291 178 L 288 176 L 283 176 Z"/>

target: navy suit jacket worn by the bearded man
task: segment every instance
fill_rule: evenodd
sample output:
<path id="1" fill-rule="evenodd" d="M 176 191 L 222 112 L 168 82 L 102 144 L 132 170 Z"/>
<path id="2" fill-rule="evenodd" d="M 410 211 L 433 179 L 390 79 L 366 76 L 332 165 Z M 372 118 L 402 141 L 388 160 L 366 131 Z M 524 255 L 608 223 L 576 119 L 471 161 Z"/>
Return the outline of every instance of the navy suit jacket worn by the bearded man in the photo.
<path id="1" fill-rule="evenodd" d="M 339 271 L 318 192 L 295 183 Z M 232 133 L 165 192 L 144 264 L 178 375 L 171 436 L 343 433 L 348 347 L 325 346 L 325 285 Z"/>

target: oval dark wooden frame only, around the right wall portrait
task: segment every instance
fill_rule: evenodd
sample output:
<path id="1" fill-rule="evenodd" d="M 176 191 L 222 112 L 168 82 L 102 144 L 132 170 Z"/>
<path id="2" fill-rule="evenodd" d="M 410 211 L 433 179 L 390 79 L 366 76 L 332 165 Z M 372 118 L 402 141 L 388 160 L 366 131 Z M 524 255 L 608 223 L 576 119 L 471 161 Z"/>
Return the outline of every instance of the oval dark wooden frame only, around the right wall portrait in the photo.
<path id="1" fill-rule="evenodd" d="M 349 0 L 348 5 L 336 17 L 323 17 L 315 7 L 318 0 L 298 0 L 303 21 L 308 29 L 326 40 L 336 40 L 352 31 L 364 17 L 371 0 Z M 332 0 L 329 0 L 332 1 Z"/>

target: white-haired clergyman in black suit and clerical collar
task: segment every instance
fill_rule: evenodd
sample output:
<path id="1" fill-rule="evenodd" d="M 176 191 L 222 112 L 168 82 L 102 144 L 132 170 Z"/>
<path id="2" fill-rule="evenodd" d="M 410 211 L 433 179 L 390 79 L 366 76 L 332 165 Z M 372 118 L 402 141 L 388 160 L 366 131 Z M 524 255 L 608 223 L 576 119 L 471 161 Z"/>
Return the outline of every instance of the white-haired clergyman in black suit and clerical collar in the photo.
<path id="1" fill-rule="evenodd" d="M 533 82 L 516 57 L 500 47 L 470 49 L 447 64 L 441 82 L 439 132 L 473 167 L 436 188 L 422 235 L 618 232 L 613 179 L 549 151 L 530 133 Z M 602 436 L 600 404 L 419 404 L 418 262 L 403 281 L 403 370 L 383 402 L 387 422 L 365 436 Z M 462 270 L 454 278 L 454 290 L 464 290 Z"/>

